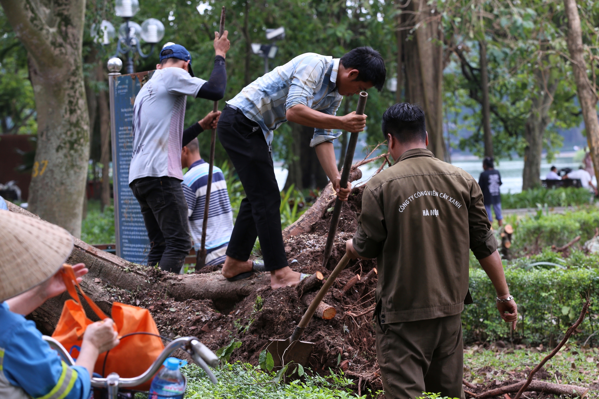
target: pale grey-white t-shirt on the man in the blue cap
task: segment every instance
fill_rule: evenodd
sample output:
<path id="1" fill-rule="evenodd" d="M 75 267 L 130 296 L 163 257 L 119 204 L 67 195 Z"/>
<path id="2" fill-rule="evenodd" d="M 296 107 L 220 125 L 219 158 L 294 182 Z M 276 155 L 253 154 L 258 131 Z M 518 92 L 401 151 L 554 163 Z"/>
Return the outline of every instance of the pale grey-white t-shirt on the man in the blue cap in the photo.
<path id="1" fill-rule="evenodd" d="M 133 154 L 129 184 L 135 179 L 170 176 L 183 180 L 181 144 L 187 96 L 206 83 L 183 68 L 157 69 L 135 97 Z"/>

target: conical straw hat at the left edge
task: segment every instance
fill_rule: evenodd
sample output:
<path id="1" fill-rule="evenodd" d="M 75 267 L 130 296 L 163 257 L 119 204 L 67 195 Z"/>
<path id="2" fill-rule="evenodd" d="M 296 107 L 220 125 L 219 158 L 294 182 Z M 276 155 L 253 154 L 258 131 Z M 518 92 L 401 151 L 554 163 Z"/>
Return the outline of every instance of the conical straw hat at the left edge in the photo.
<path id="1" fill-rule="evenodd" d="M 0 211 L 0 302 L 49 279 L 72 248 L 71 234 L 62 227 Z"/>

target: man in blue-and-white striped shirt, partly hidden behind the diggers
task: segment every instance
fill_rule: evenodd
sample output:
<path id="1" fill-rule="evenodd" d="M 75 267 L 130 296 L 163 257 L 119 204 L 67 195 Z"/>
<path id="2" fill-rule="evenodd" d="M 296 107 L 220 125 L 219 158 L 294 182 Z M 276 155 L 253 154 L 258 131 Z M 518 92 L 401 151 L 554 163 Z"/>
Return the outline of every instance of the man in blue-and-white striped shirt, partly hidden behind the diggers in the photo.
<path id="1" fill-rule="evenodd" d="M 189 230 L 193 239 L 193 248 L 199 251 L 202 240 L 202 222 L 206 185 L 208 184 L 208 163 L 199 155 L 198 139 L 193 139 L 181 150 L 181 166 L 188 167 L 183 176 L 183 194 L 187 201 Z M 233 212 L 229 194 L 226 191 L 225 175 L 214 166 L 210 209 L 206 228 L 206 265 L 225 263 L 225 251 L 233 230 Z"/>

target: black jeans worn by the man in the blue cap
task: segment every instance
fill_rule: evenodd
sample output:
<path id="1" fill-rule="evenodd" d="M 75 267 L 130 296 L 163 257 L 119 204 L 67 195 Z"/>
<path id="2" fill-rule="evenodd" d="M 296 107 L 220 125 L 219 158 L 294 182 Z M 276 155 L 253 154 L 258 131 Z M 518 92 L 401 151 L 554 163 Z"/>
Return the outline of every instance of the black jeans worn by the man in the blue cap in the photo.
<path id="1" fill-rule="evenodd" d="M 191 250 L 187 202 L 179 179 L 144 177 L 129 184 L 141 206 L 150 238 L 148 266 L 179 273 Z"/>

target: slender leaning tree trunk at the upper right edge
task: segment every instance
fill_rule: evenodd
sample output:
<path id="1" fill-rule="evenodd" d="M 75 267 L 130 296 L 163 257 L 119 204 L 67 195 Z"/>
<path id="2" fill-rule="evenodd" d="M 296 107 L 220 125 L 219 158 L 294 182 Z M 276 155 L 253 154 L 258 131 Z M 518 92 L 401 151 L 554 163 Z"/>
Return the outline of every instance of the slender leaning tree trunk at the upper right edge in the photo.
<path id="1" fill-rule="evenodd" d="M 568 51 L 572 60 L 572 71 L 576 82 L 578 101 L 585 120 L 586 141 L 591 150 L 594 165 L 599 165 L 599 120 L 597 120 L 597 95 L 586 74 L 586 60 L 582 47 L 582 28 L 576 0 L 564 0 L 568 17 Z M 591 63 L 591 68 L 595 68 Z M 595 176 L 599 181 L 599 167 L 595 167 Z"/>

